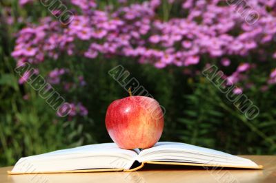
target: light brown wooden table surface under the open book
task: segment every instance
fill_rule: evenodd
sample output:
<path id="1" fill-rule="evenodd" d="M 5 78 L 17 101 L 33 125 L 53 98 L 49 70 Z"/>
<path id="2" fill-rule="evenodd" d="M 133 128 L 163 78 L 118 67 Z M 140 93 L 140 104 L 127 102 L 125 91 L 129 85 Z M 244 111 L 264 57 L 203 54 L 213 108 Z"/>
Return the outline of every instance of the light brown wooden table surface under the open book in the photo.
<path id="1" fill-rule="evenodd" d="M 250 169 L 204 169 L 196 167 L 148 167 L 135 172 L 101 173 L 48 173 L 29 175 L 8 175 L 12 166 L 0 168 L 0 182 L 276 182 L 276 155 L 242 155 L 257 164 L 263 170 Z"/>

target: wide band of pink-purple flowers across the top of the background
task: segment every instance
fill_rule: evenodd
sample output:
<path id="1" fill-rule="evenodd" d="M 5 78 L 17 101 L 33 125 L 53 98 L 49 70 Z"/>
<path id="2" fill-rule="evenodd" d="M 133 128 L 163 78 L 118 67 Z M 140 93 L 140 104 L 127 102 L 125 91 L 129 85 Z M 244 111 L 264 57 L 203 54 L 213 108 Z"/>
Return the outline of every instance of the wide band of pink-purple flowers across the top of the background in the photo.
<path id="1" fill-rule="evenodd" d="M 21 5 L 31 2 L 21 1 Z M 276 1 L 248 2 L 259 13 L 253 25 L 244 20 L 237 6 L 217 0 L 169 1 L 168 6 L 181 9 L 168 21 L 162 21 L 157 13 L 159 0 L 129 6 L 122 3 L 120 8 L 106 10 L 98 10 L 93 0 L 71 3 L 81 11 L 74 9 L 74 19 L 68 26 L 46 17 L 39 25 L 28 25 L 19 32 L 12 52 L 18 64 L 38 64 L 67 54 L 91 59 L 99 55 L 125 56 L 157 68 L 188 67 L 204 63 L 208 56 L 228 67 L 232 63 L 228 57 L 240 56 L 244 63 L 228 77 L 230 82 L 238 83 L 246 79 L 242 72 L 276 59 L 276 50 L 270 49 L 275 42 Z M 88 46 L 77 46 L 80 42 Z M 250 54 L 258 57 L 258 61 L 248 63 Z M 273 78 L 268 78 L 267 84 L 273 83 Z"/>

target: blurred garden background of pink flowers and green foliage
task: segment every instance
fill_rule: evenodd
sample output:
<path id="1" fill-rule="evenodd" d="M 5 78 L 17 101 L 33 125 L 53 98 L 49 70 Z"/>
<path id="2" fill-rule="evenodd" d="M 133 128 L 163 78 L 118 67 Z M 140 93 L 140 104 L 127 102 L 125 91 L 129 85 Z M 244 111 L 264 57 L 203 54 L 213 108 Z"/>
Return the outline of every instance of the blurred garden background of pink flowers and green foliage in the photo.
<path id="1" fill-rule="evenodd" d="M 165 107 L 162 141 L 276 153 L 275 0 L 1 0 L 0 13 L 0 166 L 111 142 L 106 109 L 128 96 L 108 74 L 117 65 Z M 32 76 L 14 72 L 24 63 Z M 255 118 L 202 74 L 210 65 L 257 106 Z M 36 75 L 70 103 L 68 116 L 26 82 Z"/>

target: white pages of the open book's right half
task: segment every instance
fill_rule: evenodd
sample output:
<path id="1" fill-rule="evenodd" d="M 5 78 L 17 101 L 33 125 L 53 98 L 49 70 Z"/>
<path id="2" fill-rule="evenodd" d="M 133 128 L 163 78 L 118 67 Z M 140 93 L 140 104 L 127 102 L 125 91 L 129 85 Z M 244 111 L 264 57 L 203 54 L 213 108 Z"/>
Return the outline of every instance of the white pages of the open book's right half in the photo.
<path id="1" fill-rule="evenodd" d="M 165 161 L 165 162 L 190 162 L 201 164 L 225 164 L 233 166 L 257 166 L 255 162 L 236 155 L 221 151 L 197 147 L 180 142 L 157 142 L 150 149 L 143 149 L 139 153 L 139 162 Z"/>

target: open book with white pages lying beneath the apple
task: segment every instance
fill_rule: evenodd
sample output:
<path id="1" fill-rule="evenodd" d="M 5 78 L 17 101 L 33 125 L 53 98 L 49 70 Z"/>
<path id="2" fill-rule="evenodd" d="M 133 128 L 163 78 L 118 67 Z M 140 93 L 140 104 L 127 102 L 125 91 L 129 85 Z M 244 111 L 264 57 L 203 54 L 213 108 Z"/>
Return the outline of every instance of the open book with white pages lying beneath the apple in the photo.
<path id="1" fill-rule="evenodd" d="M 157 142 L 149 149 L 120 149 L 115 143 L 92 144 L 21 158 L 10 174 L 135 171 L 144 164 L 262 169 L 246 158 L 179 142 Z"/>

